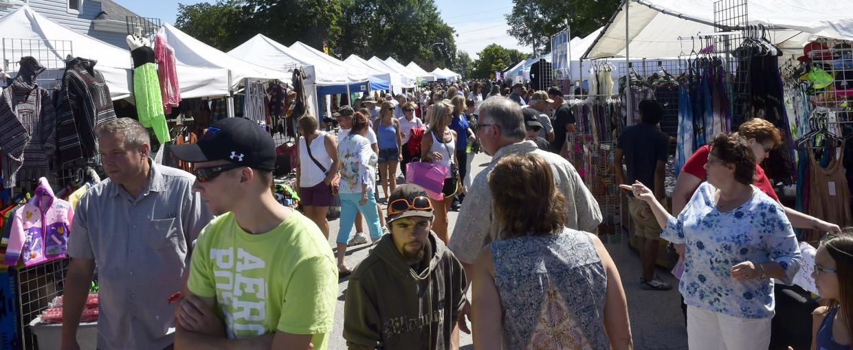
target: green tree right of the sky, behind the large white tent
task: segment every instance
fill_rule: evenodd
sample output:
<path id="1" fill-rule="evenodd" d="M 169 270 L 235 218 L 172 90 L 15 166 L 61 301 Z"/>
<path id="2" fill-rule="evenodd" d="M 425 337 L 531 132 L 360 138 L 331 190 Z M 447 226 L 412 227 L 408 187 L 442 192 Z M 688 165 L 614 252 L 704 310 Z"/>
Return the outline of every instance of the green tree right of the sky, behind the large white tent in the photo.
<path id="1" fill-rule="evenodd" d="M 566 28 L 566 20 L 572 37 L 584 37 L 604 26 L 619 3 L 621 0 L 514 0 L 513 11 L 506 16 L 507 32 L 537 52 L 547 53 L 550 37 Z"/>

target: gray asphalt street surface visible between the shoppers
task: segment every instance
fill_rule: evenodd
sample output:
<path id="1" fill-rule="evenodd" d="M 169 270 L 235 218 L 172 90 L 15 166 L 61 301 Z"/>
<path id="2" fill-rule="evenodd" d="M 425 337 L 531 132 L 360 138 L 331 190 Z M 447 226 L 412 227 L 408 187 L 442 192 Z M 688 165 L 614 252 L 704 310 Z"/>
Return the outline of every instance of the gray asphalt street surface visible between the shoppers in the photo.
<path id="1" fill-rule="evenodd" d="M 474 157 L 472 175 L 477 175 L 485 168 L 491 157 L 485 153 L 479 153 Z M 400 179 L 397 179 L 400 182 Z M 380 190 L 381 191 L 381 190 Z M 380 198 L 385 196 L 380 193 Z M 466 203 L 467 204 L 467 203 Z M 466 205 L 463 204 L 463 205 Z M 383 206 L 384 208 L 384 206 Z M 450 211 L 450 230 L 456 226 L 456 216 L 459 213 Z M 339 220 L 329 221 L 329 244 L 335 246 L 335 238 L 338 235 Z M 452 231 L 450 232 L 452 235 Z M 606 244 L 622 278 L 622 285 L 628 295 L 628 312 L 631 321 L 631 332 L 634 338 L 634 348 L 637 350 L 680 350 L 688 348 L 688 335 L 680 307 L 680 298 L 677 288 L 673 290 L 641 290 L 640 256 L 635 250 L 630 250 L 627 237 L 620 244 Z M 354 268 L 368 256 L 370 244 L 362 244 L 349 247 L 346 250 L 346 264 Z M 659 270 L 659 278 L 664 282 L 677 286 L 678 280 L 671 273 Z M 339 281 L 338 305 L 335 307 L 334 328 L 329 336 L 329 349 L 346 349 L 346 341 L 343 337 L 344 330 L 344 301 L 349 278 Z M 602 293 L 604 291 L 602 290 Z M 470 290 L 468 297 L 471 297 Z M 461 349 L 473 349 L 472 337 L 460 332 Z"/>

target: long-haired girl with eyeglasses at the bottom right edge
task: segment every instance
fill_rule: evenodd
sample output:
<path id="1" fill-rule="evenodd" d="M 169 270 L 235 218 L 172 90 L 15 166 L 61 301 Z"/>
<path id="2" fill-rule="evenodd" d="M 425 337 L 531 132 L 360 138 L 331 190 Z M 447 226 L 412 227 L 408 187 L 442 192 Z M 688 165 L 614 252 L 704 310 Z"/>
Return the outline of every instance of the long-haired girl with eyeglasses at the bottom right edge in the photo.
<path id="1" fill-rule="evenodd" d="M 814 313 L 811 348 L 818 350 L 853 349 L 853 227 L 831 234 L 815 255 L 815 286 L 829 306 Z"/>

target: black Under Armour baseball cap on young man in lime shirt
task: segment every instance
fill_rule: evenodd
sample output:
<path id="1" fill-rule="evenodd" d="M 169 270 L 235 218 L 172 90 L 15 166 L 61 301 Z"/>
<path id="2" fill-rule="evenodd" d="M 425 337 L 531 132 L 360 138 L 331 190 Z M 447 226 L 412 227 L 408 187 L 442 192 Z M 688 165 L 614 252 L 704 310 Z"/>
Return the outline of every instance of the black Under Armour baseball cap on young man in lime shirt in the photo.
<path id="1" fill-rule="evenodd" d="M 219 120 L 198 142 L 171 146 L 171 152 L 189 163 L 227 160 L 252 169 L 276 169 L 276 142 L 258 123 L 246 118 Z"/>

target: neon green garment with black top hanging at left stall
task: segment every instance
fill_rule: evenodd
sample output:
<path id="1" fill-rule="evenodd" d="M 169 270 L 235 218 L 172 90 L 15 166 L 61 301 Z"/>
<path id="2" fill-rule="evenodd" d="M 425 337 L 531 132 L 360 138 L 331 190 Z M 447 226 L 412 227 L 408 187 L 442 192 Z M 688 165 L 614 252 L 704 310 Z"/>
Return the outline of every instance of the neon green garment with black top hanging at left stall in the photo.
<path id="1" fill-rule="evenodd" d="M 154 64 L 154 49 L 148 46 L 133 49 L 133 99 L 136 100 L 136 115 L 139 123 L 154 129 L 160 144 L 169 141 L 169 127 L 165 124 L 163 96 L 160 95 L 160 80 Z"/>

